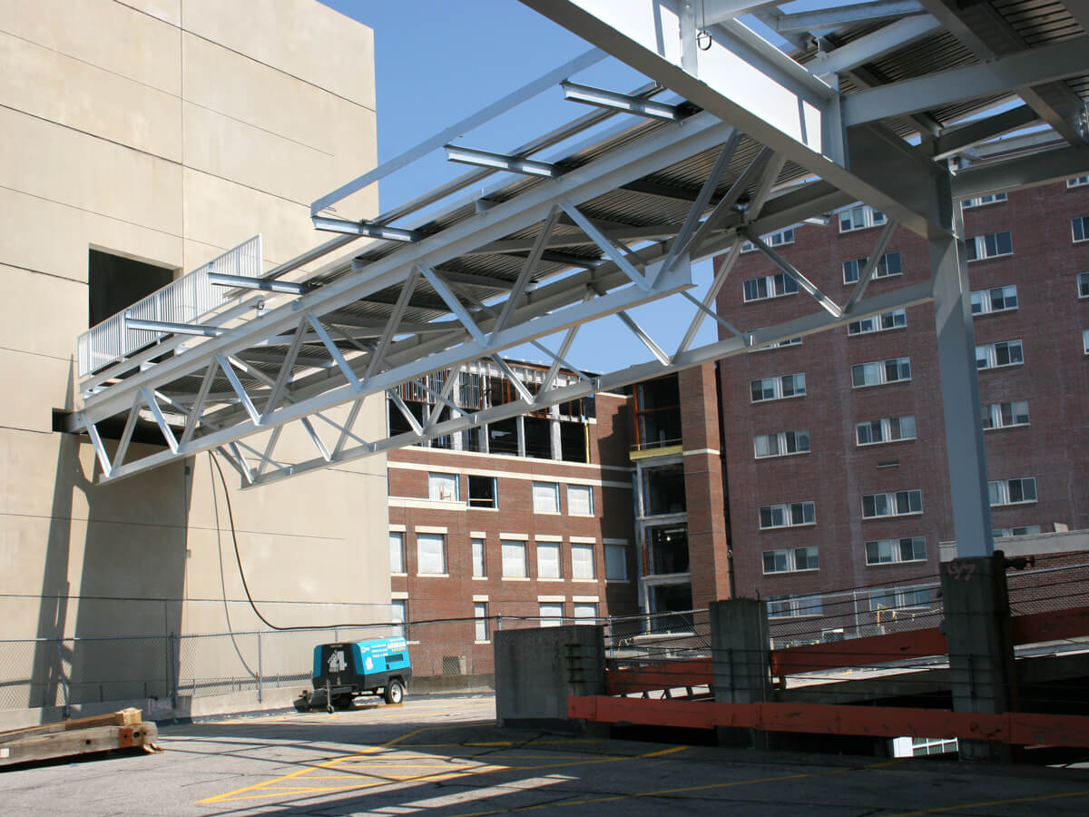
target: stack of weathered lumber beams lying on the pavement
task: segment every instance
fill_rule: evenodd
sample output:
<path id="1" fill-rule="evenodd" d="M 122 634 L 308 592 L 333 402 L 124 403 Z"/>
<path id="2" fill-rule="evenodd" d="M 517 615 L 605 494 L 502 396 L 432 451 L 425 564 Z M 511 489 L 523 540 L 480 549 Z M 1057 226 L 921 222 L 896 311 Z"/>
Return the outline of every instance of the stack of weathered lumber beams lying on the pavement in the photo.
<path id="1" fill-rule="evenodd" d="M 136 746 L 156 752 L 158 735 L 154 723 L 143 722 L 139 709 L 13 729 L 0 732 L 0 768 Z"/>

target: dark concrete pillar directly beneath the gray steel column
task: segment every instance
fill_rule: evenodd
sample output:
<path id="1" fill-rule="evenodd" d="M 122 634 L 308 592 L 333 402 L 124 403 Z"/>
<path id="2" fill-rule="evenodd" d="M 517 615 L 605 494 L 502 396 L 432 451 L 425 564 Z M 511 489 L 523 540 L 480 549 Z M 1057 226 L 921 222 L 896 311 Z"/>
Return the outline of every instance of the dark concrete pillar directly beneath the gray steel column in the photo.
<path id="1" fill-rule="evenodd" d="M 1016 708 L 1005 554 L 954 559 L 942 565 L 953 710 L 998 715 Z M 959 742 L 963 760 L 1008 761 L 1010 747 Z"/>

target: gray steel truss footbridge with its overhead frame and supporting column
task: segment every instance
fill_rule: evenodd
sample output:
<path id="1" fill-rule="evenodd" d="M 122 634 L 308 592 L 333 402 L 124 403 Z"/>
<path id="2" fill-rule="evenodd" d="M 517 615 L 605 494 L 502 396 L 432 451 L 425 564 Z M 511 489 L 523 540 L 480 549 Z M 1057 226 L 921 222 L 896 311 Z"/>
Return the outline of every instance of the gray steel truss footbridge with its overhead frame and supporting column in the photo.
<path id="1" fill-rule="evenodd" d="M 523 1 L 594 49 L 315 202 L 315 227 L 333 234 L 315 249 L 256 276 L 222 263 L 205 270 L 229 296 L 210 312 L 122 316 L 122 331 L 150 345 L 122 342 L 96 366 L 69 422 L 89 435 L 99 479 L 217 450 L 245 485 L 261 485 L 933 301 L 956 536 L 962 556 L 990 552 L 954 204 L 1089 170 L 1089 3 L 877 0 L 783 13 L 759 0 Z M 793 54 L 738 22 L 745 14 L 793 42 Z M 609 58 L 647 83 L 572 80 Z M 506 153 L 472 144 L 475 129 L 556 86 L 573 102 L 566 124 Z M 946 161 L 1033 125 L 1052 137 L 1035 151 L 960 169 Z M 472 169 L 376 218 L 329 209 L 433 150 Z M 857 202 L 889 221 L 844 303 L 760 237 Z M 897 224 L 929 242 L 931 278 L 868 296 Z M 810 314 L 770 327 L 715 314 L 744 241 L 812 297 Z M 692 264 L 719 255 L 710 288 L 694 297 Z M 690 309 L 676 347 L 629 315 L 669 296 Z M 588 375 L 567 355 L 579 327 L 608 316 L 648 359 Z M 705 321 L 722 339 L 696 345 Z M 541 342 L 556 333 L 559 344 Z M 525 343 L 552 362 L 533 388 L 500 357 Z M 479 361 L 512 379 L 513 401 L 458 405 L 460 378 L 445 375 Z M 430 395 L 430 414 L 408 411 L 406 385 Z M 363 401 L 381 394 L 408 432 L 356 429 Z M 157 426 L 166 448 L 131 447 L 140 424 Z M 278 448 L 291 426 L 313 443 L 308 454 Z M 103 442 L 107 427 L 120 429 L 115 447 Z"/>

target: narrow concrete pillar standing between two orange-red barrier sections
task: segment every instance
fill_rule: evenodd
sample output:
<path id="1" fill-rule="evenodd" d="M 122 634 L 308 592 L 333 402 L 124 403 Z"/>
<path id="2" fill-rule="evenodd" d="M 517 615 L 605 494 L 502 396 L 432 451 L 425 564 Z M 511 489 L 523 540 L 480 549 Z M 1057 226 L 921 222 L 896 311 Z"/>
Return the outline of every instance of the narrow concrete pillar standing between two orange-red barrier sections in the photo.
<path id="1" fill-rule="evenodd" d="M 768 610 L 763 601 L 735 598 L 712 601 L 711 692 L 720 704 L 758 704 L 771 698 Z M 751 729 L 720 729 L 722 745 L 767 748 L 764 735 Z"/>

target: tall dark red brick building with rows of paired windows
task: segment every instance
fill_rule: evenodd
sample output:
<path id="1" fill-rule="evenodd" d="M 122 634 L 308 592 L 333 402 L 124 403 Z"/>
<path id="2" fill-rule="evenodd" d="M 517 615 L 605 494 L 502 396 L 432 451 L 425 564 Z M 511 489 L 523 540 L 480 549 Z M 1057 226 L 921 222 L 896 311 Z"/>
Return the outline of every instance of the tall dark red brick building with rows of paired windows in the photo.
<path id="1" fill-rule="evenodd" d="M 1089 527 L 1087 182 L 964 203 L 995 537 Z M 766 240 L 842 303 L 883 223 L 856 206 Z M 929 276 L 926 243 L 897 229 L 868 294 Z M 738 326 L 810 308 L 759 252 L 730 281 L 718 309 Z M 925 606 L 954 538 L 933 306 L 719 367 L 737 594 L 783 619 L 877 585 L 896 589 L 866 594 L 867 611 Z"/>

